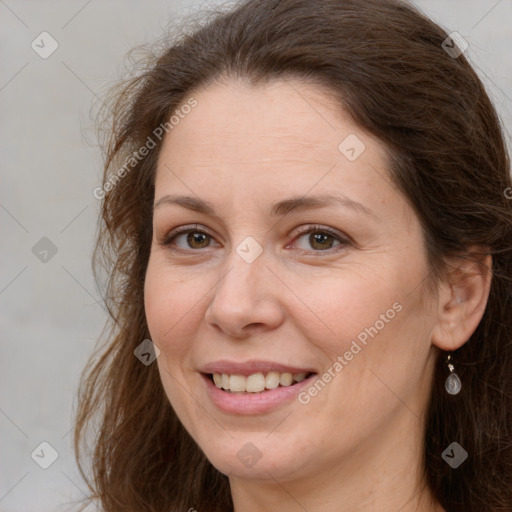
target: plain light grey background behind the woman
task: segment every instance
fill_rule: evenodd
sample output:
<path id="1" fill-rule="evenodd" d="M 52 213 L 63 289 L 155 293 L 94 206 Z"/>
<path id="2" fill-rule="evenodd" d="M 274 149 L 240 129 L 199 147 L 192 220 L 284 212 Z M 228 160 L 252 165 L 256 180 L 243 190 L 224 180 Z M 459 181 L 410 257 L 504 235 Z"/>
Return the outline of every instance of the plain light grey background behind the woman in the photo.
<path id="1" fill-rule="evenodd" d="M 510 133 L 512 1 L 415 3 L 467 39 Z M 90 264 L 101 172 L 91 108 L 130 48 L 198 6 L 208 5 L 0 0 L 1 512 L 72 510 L 68 503 L 86 491 L 70 429 L 79 374 L 105 321 Z M 43 31 L 59 45 L 47 59 L 31 47 Z M 33 253 L 43 237 L 55 255 Z M 48 469 L 31 458 L 43 441 L 58 452 Z M 40 450 L 39 460 L 48 457 Z"/>

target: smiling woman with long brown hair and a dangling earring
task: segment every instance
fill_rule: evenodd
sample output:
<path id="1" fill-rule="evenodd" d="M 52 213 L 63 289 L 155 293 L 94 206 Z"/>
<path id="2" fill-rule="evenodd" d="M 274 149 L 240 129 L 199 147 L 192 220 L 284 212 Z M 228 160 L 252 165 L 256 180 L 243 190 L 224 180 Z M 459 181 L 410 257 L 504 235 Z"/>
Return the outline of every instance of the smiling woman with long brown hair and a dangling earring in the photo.
<path id="1" fill-rule="evenodd" d="M 398 1 L 249 0 L 114 97 L 103 510 L 512 510 L 509 160 L 457 48 Z"/>

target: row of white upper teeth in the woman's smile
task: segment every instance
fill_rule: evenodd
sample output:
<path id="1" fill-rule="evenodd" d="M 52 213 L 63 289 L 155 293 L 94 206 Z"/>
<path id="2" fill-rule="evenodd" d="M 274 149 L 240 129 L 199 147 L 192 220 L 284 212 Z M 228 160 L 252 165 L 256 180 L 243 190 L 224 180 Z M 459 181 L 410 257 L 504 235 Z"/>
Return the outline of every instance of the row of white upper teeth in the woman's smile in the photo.
<path id="1" fill-rule="evenodd" d="M 219 389 L 225 389 L 232 393 L 261 393 L 265 389 L 275 389 L 279 385 L 291 386 L 295 382 L 302 382 L 306 378 L 305 373 L 278 373 L 267 374 L 253 373 L 248 377 L 243 375 L 228 375 L 226 373 L 214 373 L 213 382 Z"/>

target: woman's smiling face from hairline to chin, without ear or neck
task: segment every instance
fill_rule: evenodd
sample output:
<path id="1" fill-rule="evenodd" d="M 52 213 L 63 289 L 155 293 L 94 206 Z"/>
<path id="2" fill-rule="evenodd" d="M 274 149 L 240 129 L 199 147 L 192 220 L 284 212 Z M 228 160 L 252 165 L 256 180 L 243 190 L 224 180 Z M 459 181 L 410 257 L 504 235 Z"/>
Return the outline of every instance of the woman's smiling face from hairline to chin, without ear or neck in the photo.
<path id="1" fill-rule="evenodd" d="M 383 145 L 299 80 L 193 96 L 159 156 L 145 282 L 179 419 L 233 479 L 417 461 L 435 308 Z"/>

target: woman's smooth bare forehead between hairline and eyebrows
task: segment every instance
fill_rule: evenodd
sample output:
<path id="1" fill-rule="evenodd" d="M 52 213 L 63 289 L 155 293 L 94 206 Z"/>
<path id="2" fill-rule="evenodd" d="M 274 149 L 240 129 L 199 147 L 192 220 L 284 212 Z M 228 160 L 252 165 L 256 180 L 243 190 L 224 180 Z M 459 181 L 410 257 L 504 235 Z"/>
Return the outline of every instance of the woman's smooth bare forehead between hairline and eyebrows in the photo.
<path id="1" fill-rule="evenodd" d="M 191 96 L 197 106 L 164 139 L 157 196 L 172 189 L 232 202 L 235 192 L 277 199 L 285 190 L 314 189 L 373 203 L 396 193 L 387 183 L 382 143 L 318 87 L 300 80 L 258 87 L 226 81 Z M 347 140 L 360 152 L 356 159 L 343 152 Z"/>

